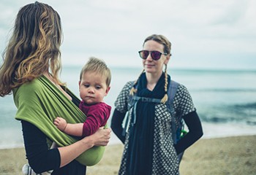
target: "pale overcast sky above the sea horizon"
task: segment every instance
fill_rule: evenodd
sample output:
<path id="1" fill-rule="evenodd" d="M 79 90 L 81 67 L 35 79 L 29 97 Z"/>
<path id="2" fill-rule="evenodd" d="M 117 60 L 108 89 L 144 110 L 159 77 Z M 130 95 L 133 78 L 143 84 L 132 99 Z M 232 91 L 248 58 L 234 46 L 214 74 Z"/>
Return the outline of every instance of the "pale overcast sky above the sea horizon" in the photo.
<path id="1" fill-rule="evenodd" d="M 18 9 L 34 1 L 1 0 L 0 51 Z M 59 12 L 64 65 L 89 56 L 110 66 L 141 66 L 138 50 L 151 34 L 172 43 L 173 68 L 256 70 L 255 0 L 47 0 Z"/>

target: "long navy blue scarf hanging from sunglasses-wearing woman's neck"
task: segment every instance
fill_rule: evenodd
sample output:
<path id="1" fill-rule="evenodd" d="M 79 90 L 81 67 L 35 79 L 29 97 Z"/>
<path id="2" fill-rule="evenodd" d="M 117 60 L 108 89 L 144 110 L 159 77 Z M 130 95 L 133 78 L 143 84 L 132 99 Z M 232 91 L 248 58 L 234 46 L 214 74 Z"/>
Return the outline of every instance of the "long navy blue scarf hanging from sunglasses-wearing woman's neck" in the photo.
<path id="1" fill-rule="evenodd" d="M 168 82 L 170 77 L 168 76 Z M 147 88 L 146 74 L 138 79 L 136 96 L 159 98 L 165 95 L 165 74 L 160 77 L 154 90 Z M 155 103 L 138 101 L 136 122 L 129 130 L 129 145 L 127 150 L 127 174 L 151 174 L 154 149 Z M 133 115 L 132 120 L 133 121 Z"/>

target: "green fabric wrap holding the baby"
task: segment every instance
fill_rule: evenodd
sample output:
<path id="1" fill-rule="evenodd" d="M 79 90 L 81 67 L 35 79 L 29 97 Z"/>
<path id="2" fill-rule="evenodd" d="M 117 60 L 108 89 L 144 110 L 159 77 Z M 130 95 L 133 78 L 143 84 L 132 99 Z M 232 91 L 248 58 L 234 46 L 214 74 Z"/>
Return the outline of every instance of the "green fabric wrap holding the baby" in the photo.
<path id="1" fill-rule="evenodd" d="M 73 99 L 78 99 L 71 91 L 68 90 L 68 93 Z M 13 90 L 13 98 L 18 109 L 15 119 L 37 126 L 50 142 L 55 141 L 59 147 L 65 147 L 80 139 L 59 131 L 53 120 L 59 116 L 67 123 L 83 123 L 86 115 L 45 76 Z M 94 166 L 102 159 L 104 151 L 105 147 L 92 147 L 76 160 L 84 166 Z"/>

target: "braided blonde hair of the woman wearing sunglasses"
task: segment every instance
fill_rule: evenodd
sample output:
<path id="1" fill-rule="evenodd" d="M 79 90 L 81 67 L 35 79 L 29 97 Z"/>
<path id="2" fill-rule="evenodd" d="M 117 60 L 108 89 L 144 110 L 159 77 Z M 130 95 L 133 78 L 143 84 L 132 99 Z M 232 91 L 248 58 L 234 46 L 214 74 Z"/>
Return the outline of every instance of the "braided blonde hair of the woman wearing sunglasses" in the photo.
<path id="1" fill-rule="evenodd" d="M 164 46 L 164 52 L 167 54 L 170 54 L 170 49 L 171 49 L 171 43 L 169 42 L 169 40 L 163 36 L 163 35 L 157 35 L 157 34 L 153 34 L 151 36 L 148 36 L 144 42 L 143 42 L 143 46 L 146 42 L 148 42 L 149 40 L 153 40 L 155 42 L 158 42 L 159 44 L 162 44 Z M 171 54 L 170 54 L 171 55 Z M 143 69 L 143 71 L 140 73 L 143 74 L 145 70 Z M 140 79 L 140 76 L 138 77 L 138 79 Z M 135 86 L 138 83 L 138 79 L 135 81 L 135 84 L 133 85 L 132 89 L 129 91 L 129 94 L 134 96 L 135 93 L 137 93 L 137 89 L 135 89 Z M 167 96 L 167 86 L 168 86 L 168 79 L 167 79 L 167 64 L 165 64 L 165 96 L 163 96 L 161 103 L 165 104 L 165 102 L 168 99 Z"/>

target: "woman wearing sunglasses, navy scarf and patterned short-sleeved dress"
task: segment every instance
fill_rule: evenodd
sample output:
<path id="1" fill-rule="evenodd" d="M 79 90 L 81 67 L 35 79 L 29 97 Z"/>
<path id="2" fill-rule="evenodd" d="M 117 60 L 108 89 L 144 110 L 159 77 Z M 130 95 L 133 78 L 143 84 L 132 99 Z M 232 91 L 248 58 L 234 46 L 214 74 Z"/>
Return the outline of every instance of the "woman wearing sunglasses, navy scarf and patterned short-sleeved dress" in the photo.
<path id="1" fill-rule="evenodd" d="M 166 103 L 170 47 L 165 36 L 148 36 L 143 42 L 143 50 L 139 51 L 142 73 L 136 81 L 127 82 L 116 99 L 111 128 L 124 143 L 119 174 L 179 174 L 178 154 L 203 136 L 192 98 L 187 88 L 178 84 L 173 109 L 184 119 L 189 132 L 176 144 L 172 139 L 172 117 Z M 131 96 L 140 97 L 132 106 Z M 143 100 L 149 98 L 157 98 L 160 102 Z M 122 128 L 124 118 L 128 121 L 125 129 Z"/>

